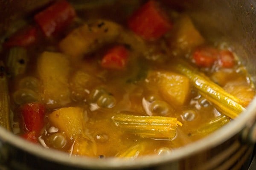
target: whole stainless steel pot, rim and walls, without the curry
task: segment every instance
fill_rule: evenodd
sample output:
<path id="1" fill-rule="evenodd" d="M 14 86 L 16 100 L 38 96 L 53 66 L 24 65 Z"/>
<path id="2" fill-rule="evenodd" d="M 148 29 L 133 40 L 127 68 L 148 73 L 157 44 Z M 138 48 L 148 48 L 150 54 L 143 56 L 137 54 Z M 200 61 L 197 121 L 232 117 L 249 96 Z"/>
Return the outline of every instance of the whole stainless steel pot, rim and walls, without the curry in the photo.
<path id="1" fill-rule="evenodd" d="M 16 17 L 33 12 L 48 0 L 0 0 L 0 34 Z M 72 3 L 89 0 L 73 0 Z M 227 41 L 246 65 L 256 83 L 256 1 L 254 0 L 164 0 L 186 9 L 196 26 L 213 41 Z M 3 72 L 3 71 L 2 71 Z M 0 72 L 0 79 L 1 77 Z M 0 86 L 0 88 L 3 88 Z M 2 96 L 0 96 L 1 98 Z M 1 108 L 0 112 L 8 111 Z M 0 128 L 0 163 L 15 169 L 241 169 L 247 168 L 256 142 L 256 99 L 247 111 L 206 138 L 173 150 L 171 155 L 145 156 L 133 161 L 69 156 L 30 144 Z M 1 168 L 1 166 L 0 166 Z"/>

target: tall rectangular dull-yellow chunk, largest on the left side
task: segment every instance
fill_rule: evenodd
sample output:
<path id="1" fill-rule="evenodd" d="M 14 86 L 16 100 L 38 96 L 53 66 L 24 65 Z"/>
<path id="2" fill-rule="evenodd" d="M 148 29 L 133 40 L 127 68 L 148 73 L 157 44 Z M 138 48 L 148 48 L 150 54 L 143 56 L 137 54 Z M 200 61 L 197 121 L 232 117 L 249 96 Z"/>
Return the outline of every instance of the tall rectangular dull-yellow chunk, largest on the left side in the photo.
<path id="1" fill-rule="evenodd" d="M 61 53 L 43 52 L 38 60 L 38 73 L 43 82 L 43 101 L 49 108 L 59 108 L 71 101 L 68 76 L 70 62 Z"/>

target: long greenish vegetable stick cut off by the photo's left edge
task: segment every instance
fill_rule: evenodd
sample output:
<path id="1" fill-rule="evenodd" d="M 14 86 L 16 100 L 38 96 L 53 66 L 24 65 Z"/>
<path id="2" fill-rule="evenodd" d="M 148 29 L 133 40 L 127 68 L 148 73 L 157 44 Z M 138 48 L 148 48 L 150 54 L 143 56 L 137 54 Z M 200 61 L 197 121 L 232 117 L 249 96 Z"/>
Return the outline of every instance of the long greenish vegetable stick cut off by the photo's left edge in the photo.
<path id="1" fill-rule="evenodd" d="M 0 61 L 0 125 L 10 130 L 7 79 L 2 61 Z"/>

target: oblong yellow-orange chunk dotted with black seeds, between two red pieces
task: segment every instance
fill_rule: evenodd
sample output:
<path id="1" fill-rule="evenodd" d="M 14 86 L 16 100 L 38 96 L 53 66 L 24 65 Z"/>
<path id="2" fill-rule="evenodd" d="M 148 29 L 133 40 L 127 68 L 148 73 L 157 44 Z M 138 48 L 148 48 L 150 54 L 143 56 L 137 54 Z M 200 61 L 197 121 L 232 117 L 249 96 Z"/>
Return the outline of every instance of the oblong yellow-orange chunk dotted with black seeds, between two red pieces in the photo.
<path id="1" fill-rule="evenodd" d="M 121 26 L 108 20 L 97 20 L 73 30 L 59 43 L 64 54 L 73 58 L 82 57 L 119 36 Z"/>

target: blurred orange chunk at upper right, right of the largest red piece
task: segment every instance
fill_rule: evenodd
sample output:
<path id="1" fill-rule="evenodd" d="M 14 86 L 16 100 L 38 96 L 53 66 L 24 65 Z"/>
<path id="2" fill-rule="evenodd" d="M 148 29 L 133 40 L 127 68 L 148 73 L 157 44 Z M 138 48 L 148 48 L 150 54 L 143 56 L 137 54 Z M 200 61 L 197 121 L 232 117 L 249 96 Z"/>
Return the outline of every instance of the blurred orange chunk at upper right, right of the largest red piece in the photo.
<path id="1" fill-rule="evenodd" d="M 181 51 L 191 51 L 203 45 L 205 40 L 200 32 L 195 28 L 191 18 L 182 15 L 173 26 L 170 45 Z"/>

